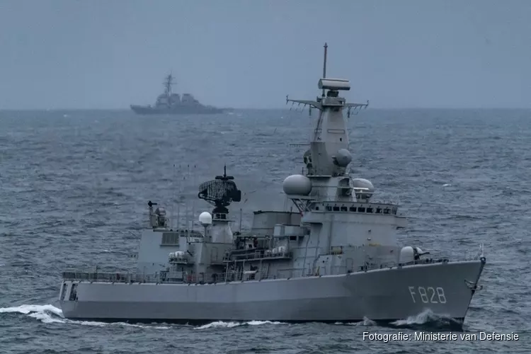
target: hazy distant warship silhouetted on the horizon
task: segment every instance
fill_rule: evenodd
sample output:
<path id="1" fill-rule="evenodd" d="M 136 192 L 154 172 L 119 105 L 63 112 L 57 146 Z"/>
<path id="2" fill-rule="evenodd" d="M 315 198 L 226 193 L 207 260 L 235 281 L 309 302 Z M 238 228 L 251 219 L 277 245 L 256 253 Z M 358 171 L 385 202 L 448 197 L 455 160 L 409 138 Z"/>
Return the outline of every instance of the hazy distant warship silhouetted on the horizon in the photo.
<path id="1" fill-rule="evenodd" d="M 155 105 L 131 105 L 131 109 L 140 115 L 215 114 L 224 112 L 221 108 L 202 105 L 191 93 L 184 93 L 181 98 L 178 93 L 171 92 L 173 84 L 173 76 L 169 74 L 164 80 L 164 93 L 161 93 L 156 98 Z"/>

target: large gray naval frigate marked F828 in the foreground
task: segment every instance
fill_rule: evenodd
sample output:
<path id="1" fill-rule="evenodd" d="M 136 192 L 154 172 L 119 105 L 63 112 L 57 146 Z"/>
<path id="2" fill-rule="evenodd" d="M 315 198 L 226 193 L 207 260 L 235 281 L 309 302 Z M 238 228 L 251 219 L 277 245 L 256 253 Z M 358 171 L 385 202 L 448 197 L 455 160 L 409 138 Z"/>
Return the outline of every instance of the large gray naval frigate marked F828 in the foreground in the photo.
<path id="1" fill-rule="evenodd" d="M 172 229 L 163 207 L 149 205 L 137 270 L 63 273 L 65 317 L 93 321 L 185 322 L 394 321 L 426 310 L 462 324 L 486 260 L 432 258 L 399 246 L 406 227 L 398 205 L 377 200 L 370 181 L 347 172 L 352 156 L 339 91 L 349 81 L 319 80 L 322 96 L 309 105 L 319 117 L 302 174 L 283 190 L 296 209 L 255 211 L 249 232 L 232 232 L 228 207 L 241 200 L 234 177 L 202 183 L 198 197 L 214 209 L 200 231 Z M 326 92 L 325 92 L 326 91 Z M 295 211 L 293 211 L 295 210 Z M 480 248 L 482 250 L 482 247 Z"/>

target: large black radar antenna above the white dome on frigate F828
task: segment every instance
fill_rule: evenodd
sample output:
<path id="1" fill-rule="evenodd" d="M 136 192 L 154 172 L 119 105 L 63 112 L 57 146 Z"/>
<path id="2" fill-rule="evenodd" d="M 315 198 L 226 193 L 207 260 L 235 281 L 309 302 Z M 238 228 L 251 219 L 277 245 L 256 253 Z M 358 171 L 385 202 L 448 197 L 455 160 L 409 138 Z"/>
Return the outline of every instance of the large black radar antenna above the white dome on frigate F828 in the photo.
<path id="1" fill-rule="evenodd" d="M 236 187 L 233 176 L 227 176 L 227 165 L 224 166 L 223 176 L 216 176 L 212 181 L 199 185 L 198 198 L 214 205 L 213 213 L 228 214 L 227 207 L 232 202 L 241 201 L 241 190 Z"/>

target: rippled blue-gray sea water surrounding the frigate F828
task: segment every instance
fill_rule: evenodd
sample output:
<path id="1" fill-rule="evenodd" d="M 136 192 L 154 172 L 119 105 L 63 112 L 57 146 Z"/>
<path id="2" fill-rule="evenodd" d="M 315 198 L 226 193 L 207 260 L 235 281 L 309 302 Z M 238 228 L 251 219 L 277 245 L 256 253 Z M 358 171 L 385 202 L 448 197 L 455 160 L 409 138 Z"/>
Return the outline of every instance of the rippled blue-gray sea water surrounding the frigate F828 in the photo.
<path id="1" fill-rule="evenodd" d="M 225 163 L 246 193 L 233 208 L 236 216 L 244 207 L 244 228 L 251 210 L 283 207 L 282 181 L 300 171 L 304 152 L 290 144 L 307 141 L 307 113 L 0 112 L 0 353 L 530 353 L 530 121 L 529 110 L 369 109 L 350 118 L 353 171 L 411 217 L 401 242 L 452 257 L 484 243 L 484 289 L 464 331 L 520 336 L 384 343 L 362 333 L 450 329 L 430 314 L 386 328 L 368 319 L 193 327 L 68 321 L 58 308 L 59 272 L 132 268 L 147 200 L 173 214 L 180 201 L 183 213 Z"/>

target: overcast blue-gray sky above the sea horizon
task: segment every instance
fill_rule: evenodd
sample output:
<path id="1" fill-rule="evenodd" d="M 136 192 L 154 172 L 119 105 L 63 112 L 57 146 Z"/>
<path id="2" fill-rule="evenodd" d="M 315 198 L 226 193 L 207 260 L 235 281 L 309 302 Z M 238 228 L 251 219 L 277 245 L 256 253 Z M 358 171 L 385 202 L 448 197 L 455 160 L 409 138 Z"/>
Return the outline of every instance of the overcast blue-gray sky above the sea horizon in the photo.
<path id="1" fill-rule="evenodd" d="M 531 108 L 531 1 L 0 0 L 0 109 L 178 93 L 280 108 L 350 79 L 373 108 Z"/>

